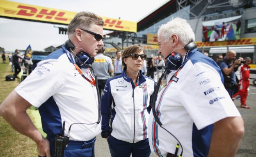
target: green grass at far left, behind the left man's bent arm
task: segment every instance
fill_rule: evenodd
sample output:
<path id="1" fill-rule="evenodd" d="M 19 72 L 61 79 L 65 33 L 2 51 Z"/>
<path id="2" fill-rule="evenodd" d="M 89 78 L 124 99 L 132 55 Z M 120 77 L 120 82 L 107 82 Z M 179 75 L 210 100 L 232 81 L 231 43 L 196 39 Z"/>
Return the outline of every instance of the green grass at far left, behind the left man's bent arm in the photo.
<path id="1" fill-rule="evenodd" d="M 19 84 L 20 80 L 5 81 L 6 75 L 13 74 L 9 63 L 0 62 L 0 104 L 11 91 Z M 27 110 L 31 115 L 31 110 Z M 31 118 L 34 122 L 34 118 Z M 2 117 L 0 117 L 0 157 L 37 157 L 35 142 L 14 130 Z"/>

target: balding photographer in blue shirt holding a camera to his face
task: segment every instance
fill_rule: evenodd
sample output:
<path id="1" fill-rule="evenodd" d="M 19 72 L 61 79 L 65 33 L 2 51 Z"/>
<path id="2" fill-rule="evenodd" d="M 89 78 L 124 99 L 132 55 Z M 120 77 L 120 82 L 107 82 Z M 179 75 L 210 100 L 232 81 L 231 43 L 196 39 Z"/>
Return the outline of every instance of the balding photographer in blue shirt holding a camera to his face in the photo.
<path id="1" fill-rule="evenodd" d="M 220 69 L 224 77 L 224 86 L 230 97 L 234 94 L 234 90 L 238 88 L 235 80 L 235 71 L 241 66 L 241 60 L 235 60 L 236 52 L 229 50 L 224 59 L 220 62 Z"/>

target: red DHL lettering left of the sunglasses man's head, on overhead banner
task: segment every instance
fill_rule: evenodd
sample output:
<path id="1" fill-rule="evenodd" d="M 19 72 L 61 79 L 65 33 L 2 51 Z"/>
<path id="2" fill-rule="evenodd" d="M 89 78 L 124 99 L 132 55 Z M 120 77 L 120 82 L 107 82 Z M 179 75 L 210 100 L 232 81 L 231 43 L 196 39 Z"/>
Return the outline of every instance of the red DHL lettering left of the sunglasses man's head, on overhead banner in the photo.
<path id="1" fill-rule="evenodd" d="M 67 21 L 67 18 L 63 18 L 65 12 L 62 11 L 54 11 L 48 9 L 41 9 L 41 11 L 37 11 L 37 8 L 34 7 L 27 7 L 24 5 L 18 5 L 17 8 L 20 8 L 16 15 L 23 15 L 23 16 L 33 16 L 36 15 L 37 18 L 43 18 L 45 16 L 46 19 L 52 19 L 54 16 L 55 20 Z M 14 14 L 14 11 L 5 10 L 5 13 Z"/>

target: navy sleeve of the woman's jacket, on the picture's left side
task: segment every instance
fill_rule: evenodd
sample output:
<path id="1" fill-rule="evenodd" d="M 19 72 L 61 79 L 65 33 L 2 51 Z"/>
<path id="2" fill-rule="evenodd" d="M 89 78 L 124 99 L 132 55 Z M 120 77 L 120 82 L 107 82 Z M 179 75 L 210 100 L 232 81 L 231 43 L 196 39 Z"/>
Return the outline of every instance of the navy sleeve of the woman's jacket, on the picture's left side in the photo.
<path id="1" fill-rule="evenodd" d="M 101 137 L 106 138 L 110 135 L 110 109 L 111 104 L 113 102 L 113 97 L 111 94 L 111 88 L 110 88 L 110 80 L 108 79 L 103 93 L 101 97 L 101 116 L 102 116 L 102 122 L 101 122 Z"/>

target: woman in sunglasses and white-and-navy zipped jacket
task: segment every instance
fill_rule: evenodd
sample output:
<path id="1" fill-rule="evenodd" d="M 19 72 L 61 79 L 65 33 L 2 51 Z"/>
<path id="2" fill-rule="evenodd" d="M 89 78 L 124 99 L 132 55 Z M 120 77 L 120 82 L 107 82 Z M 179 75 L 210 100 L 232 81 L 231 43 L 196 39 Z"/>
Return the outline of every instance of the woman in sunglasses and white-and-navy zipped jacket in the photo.
<path id="1" fill-rule="evenodd" d="M 130 154 L 149 157 L 151 153 L 147 120 L 155 82 L 142 75 L 145 59 L 142 46 L 129 46 L 122 53 L 123 73 L 108 79 L 105 84 L 101 98 L 101 136 L 107 139 L 112 157 L 130 157 Z"/>

